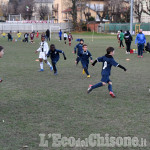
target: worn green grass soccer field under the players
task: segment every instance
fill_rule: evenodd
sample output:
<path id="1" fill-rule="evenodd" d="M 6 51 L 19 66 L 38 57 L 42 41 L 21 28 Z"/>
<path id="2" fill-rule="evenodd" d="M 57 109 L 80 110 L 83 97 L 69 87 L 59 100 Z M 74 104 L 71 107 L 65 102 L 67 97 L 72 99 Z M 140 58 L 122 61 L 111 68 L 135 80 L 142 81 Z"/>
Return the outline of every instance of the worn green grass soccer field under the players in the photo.
<path id="1" fill-rule="evenodd" d="M 109 96 L 107 86 L 86 93 L 89 84 L 101 79 L 101 63 L 90 66 L 91 78 L 82 75 L 81 64 L 75 66 L 76 55 L 72 46 L 52 39 L 57 49 L 65 52 L 57 64 L 58 75 L 54 76 L 47 65 L 44 72 L 39 70 L 35 44 L 7 42 L 0 38 L 5 55 L 0 59 L 0 150 L 149 150 L 150 145 L 150 54 L 137 58 L 136 54 L 126 55 L 125 49 L 118 49 L 116 36 L 74 34 L 74 39 L 84 38 L 88 49 L 97 58 L 113 46 L 114 58 L 128 70 L 112 69 L 111 80 L 116 99 Z M 134 37 L 135 39 L 135 37 Z M 150 37 L 147 37 L 150 41 Z M 132 48 L 136 48 L 134 42 Z M 126 61 L 126 59 L 130 59 Z M 40 133 L 61 133 L 62 136 L 85 139 L 92 133 L 114 137 L 146 138 L 145 148 L 52 148 L 39 147 Z"/>

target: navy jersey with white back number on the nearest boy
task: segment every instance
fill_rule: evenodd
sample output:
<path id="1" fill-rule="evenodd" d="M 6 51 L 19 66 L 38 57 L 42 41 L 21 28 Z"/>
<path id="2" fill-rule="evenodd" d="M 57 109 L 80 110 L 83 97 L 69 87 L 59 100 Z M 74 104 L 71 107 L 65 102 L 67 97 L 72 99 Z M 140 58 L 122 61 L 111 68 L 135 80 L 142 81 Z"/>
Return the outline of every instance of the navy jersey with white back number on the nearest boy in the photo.
<path id="1" fill-rule="evenodd" d="M 111 67 L 115 66 L 117 67 L 119 64 L 114 60 L 114 58 L 111 55 L 106 54 L 103 57 L 97 58 L 98 62 L 103 62 L 102 65 L 102 75 L 110 75 L 111 74 Z"/>

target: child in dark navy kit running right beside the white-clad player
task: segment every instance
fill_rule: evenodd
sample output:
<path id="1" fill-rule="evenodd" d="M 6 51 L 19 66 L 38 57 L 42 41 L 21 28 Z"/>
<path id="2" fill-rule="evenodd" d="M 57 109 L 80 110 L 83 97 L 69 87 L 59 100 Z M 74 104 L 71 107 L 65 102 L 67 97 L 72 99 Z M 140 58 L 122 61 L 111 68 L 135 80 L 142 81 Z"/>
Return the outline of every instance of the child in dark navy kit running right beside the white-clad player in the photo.
<path id="1" fill-rule="evenodd" d="M 56 68 L 56 64 L 57 62 L 59 61 L 59 53 L 62 53 L 63 56 L 64 56 L 64 60 L 66 60 L 66 56 L 65 56 L 65 53 L 61 50 L 57 50 L 55 48 L 55 45 L 54 44 L 51 44 L 50 46 L 50 50 L 47 54 L 47 57 L 50 57 L 51 58 L 51 62 L 52 62 L 52 65 L 53 65 L 53 69 L 54 69 L 54 75 L 57 75 L 57 68 Z"/>

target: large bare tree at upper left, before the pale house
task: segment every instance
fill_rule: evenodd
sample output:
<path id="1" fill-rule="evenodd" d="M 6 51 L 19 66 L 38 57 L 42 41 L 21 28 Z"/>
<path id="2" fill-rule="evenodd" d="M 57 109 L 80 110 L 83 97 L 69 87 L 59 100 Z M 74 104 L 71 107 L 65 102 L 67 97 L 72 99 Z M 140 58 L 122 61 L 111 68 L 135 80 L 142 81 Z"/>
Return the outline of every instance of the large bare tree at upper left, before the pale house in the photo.
<path id="1" fill-rule="evenodd" d="M 23 0 L 19 3 L 17 12 L 22 15 L 24 19 L 31 19 L 34 11 L 34 0 Z"/>

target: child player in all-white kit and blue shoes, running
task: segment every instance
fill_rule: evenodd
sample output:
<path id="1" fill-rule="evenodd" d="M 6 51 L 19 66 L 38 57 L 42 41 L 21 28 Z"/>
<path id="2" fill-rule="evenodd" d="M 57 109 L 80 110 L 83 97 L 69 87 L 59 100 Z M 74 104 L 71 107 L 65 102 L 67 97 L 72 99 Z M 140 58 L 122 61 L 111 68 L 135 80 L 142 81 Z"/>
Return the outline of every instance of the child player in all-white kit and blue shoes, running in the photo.
<path id="1" fill-rule="evenodd" d="M 44 62 L 50 67 L 50 70 L 52 71 L 53 70 L 53 67 L 52 65 L 47 61 L 47 53 L 48 53 L 48 50 L 49 50 L 49 47 L 48 47 L 48 44 L 47 42 L 45 41 L 45 36 L 43 36 L 41 38 L 41 43 L 40 43 L 40 47 L 39 49 L 36 50 L 35 53 L 37 52 L 40 52 L 39 53 L 39 61 L 40 61 L 40 72 L 41 71 L 44 71 L 43 69 L 43 60 Z"/>

